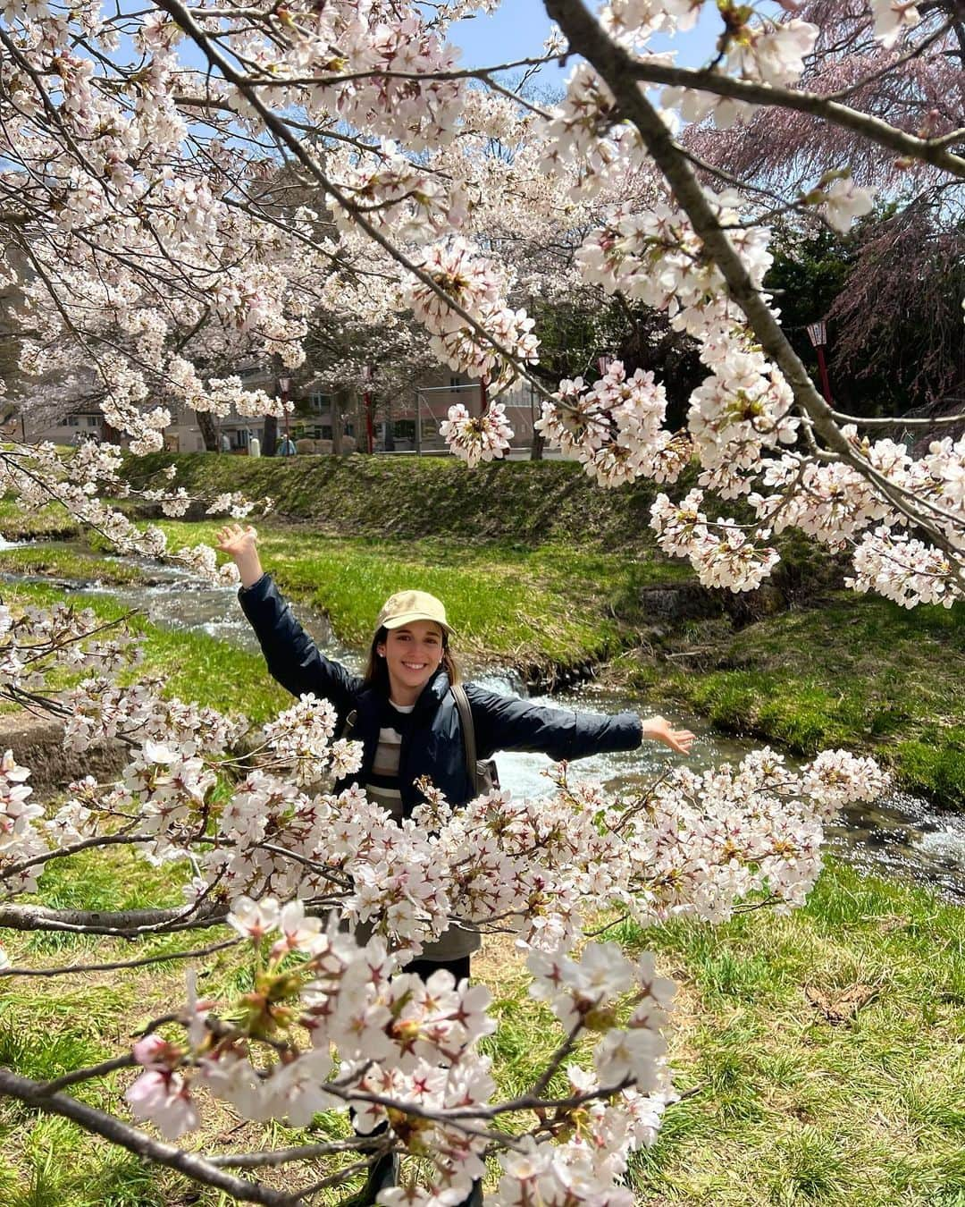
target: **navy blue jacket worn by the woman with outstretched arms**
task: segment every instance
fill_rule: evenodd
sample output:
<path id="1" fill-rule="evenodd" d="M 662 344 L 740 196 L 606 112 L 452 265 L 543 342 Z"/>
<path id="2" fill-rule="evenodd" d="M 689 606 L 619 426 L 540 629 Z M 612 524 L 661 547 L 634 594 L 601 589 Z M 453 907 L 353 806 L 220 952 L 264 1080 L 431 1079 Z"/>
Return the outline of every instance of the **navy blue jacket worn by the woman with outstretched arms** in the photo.
<path id="1" fill-rule="evenodd" d="M 385 700 L 379 688 L 367 687 L 340 663 L 321 654 L 315 642 L 292 616 L 270 575 L 238 593 L 245 616 L 258 637 L 271 675 L 299 696 L 312 692 L 329 700 L 338 713 L 339 730 L 351 713 L 351 728 L 344 734 L 363 745 L 362 769 L 350 781 L 368 780 Z M 466 684 L 473 713 L 476 754 L 490 758 L 496 751 L 538 751 L 551 759 L 586 758 L 608 751 L 636 750 L 641 744 L 641 721 L 634 712 L 612 717 L 548 709 L 511 696 Z M 474 795 L 466 770 L 460 715 L 449 676 L 439 670 L 422 689 L 413 712 L 413 728 L 399 754 L 402 800 L 407 816 L 422 799 L 415 781 L 421 776 L 441 789 L 452 805 L 466 804 Z M 340 783 L 340 791 L 347 785 Z"/>

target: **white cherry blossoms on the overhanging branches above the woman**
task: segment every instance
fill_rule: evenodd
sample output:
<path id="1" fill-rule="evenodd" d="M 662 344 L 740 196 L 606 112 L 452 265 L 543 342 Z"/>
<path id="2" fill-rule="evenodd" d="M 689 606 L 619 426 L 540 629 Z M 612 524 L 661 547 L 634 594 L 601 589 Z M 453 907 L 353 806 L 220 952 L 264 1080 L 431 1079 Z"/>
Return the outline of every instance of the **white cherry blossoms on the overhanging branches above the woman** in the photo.
<path id="1" fill-rule="evenodd" d="M 19 295 L 23 371 L 80 372 L 78 389 L 99 397 L 105 419 L 128 435 L 133 451 L 147 453 L 162 447 L 175 406 L 216 415 L 232 408 L 282 414 L 280 400 L 247 389 L 226 369 L 247 357 L 299 366 L 320 316 L 337 327 L 351 315 L 373 331 L 402 332 L 411 309 L 427 338 L 409 332 L 399 348 L 476 377 L 498 393 L 536 360 L 533 319 L 521 303 L 569 301 L 577 292 L 589 299 L 602 287 L 665 310 L 674 328 L 698 340 L 710 377 L 691 400 L 686 436 L 667 436 L 660 426 L 654 432 L 649 419 L 636 432 L 622 430 L 622 404 L 586 424 L 585 387 L 563 383 L 548 404 L 548 422 L 573 455 L 604 483 L 637 472 L 672 482 L 690 441 L 704 489 L 725 498 L 768 497 L 767 514 L 748 537 L 751 547 L 766 549 L 766 533 L 779 531 L 780 517 L 791 513 L 802 515 L 806 529 L 821 527 L 817 500 L 826 462 L 809 456 L 817 471 L 812 490 L 799 482 L 800 461 L 791 461 L 790 477 L 770 491 L 782 494 L 773 506 L 768 485 L 776 483 L 765 477 L 780 472 L 772 468 L 773 460 L 782 462 L 777 443 L 813 436 L 800 400 L 758 348 L 714 257 L 657 182 L 641 132 L 624 118 L 607 82 L 579 62 L 566 98 L 546 117 L 538 105 L 460 77 L 446 33 L 458 13 L 493 7 L 491 0 L 443 4 L 429 14 L 385 0 L 333 0 L 322 8 L 296 0 L 236 19 L 216 10 L 209 21 L 201 5 L 192 10 L 198 29 L 185 30 L 148 6 L 123 25 L 122 37 L 118 23 L 127 18 L 112 18 L 92 0 L 63 14 L 8 4 L 4 21 L 17 53 L 0 64 L 0 98 L 10 98 L 0 100 L 4 181 L 37 225 L 27 268 L 0 257 L 0 276 Z M 624 52 L 668 66 L 673 53 L 655 53 L 653 36 L 669 36 L 673 46 L 703 7 L 700 0 L 610 0 L 600 21 Z M 868 12 L 885 46 L 920 19 L 916 5 L 901 0 L 870 0 Z M 731 7 L 709 75 L 776 92 L 795 86 L 815 36 L 815 25 L 793 13 Z M 186 63 L 182 47 L 198 39 L 232 62 L 240 57 L 244 86 Z M 142 63 L 124 66 L 128 42 Z M 549 53 L 562 49 L 561 39 L 551 41 Z M 58 81 L 55 104 L 40 91 L 48 80 Z M 649 97 L 645 87 L 642 95 Z M 708 116 L 729 124 L 750 109 L 700 87 L 669 87 L 660 97 L 672 128 Z M 296 112 L 310 136 L 298 123 L 286 127 Z M 279 123 L 293 140 L 285 144 L 285 169 L 269 162 L 261 141 L 268 128 L 280 136 Z M 204 154 L 192 154 L 201 130 Z M 329 210 L 320 200 L 326 191 Z M 760 291 L 770 266 L 760 206 L 731 189 L 707 199 Z M 868 212 L 872 191 L 847 165 L 836 167 L 795 204 L 846 229 Z M 335 355 L 333 372 L 355 378 L 369 360 Z M 562 419 L 569 408 L 571 419 Z M 474 462 L 499 456 L 509 439 L 503 419 L 495 410 L 479 421 L 450 416 L 450 448 Z M 580 425 L 583 448 L 571 430 Z M 938 477 L 960 460 L 940 456 Z M 960 506 L 940 505 L 952 517 L 938 518 L 947 541 L 908 546 L 900 529 L 914 526 L 914 517 L 895 519 L 893 507 L 878 506 L 888 498 L 882 483 L 855 457 L 846 461 L 841 477 L 855 483 L 855 492 L 872 483 L 877 503 L 864 511 L 884 511 L 847 535 L 862 549 L 855 584 L 910 604 L 960 597 Z M 83 465 L 77 461 L 78 473 Z M 165 552 L 157 530 L 139 535 L 99 502 L 99 486 L 124 489 L 111 472 L 104 460 L 83 482 L 62 484 L 54 497 L 123 548 Z M 912 490 L 928 477 L 903 473 Z M 29 474 L 13 477 L 25 498 L 36 496 Z M 156 501 L 169 515 L 188 506 L 179 490 Z M 222 502 L 234 518 L 248 506 L 236 497 Z M 854 517 L 862 505 L 842 509 Z M 875 536 L 878 527 L 890 532 L 884 544 Z M 731 567 L 745 556 L 747 542 L 733 531 L 719 536 L 721 577 L 738 582 Z M 697 560 L 709 549 L 702 547 Z M 186 550 L 183 558 L 216 576 L 210 554 Z"/>

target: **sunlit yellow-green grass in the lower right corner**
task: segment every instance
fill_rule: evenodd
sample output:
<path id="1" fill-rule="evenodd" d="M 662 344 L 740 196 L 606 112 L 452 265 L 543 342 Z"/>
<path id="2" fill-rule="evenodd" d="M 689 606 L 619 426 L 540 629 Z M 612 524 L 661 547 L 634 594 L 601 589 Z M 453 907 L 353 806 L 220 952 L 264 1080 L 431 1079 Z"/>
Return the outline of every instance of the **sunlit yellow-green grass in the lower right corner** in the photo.
<path id="1" fill-rule="evenodd" d="M 634 1160 L 641 1203 L 965 1200 L 960 908 L 832 865 L 786 917 L 622 933 L 683 982 L 674 1063 L 700 1088 Z M 878 996 L 837 1026 L 805 996 L 854 984 Z"/>

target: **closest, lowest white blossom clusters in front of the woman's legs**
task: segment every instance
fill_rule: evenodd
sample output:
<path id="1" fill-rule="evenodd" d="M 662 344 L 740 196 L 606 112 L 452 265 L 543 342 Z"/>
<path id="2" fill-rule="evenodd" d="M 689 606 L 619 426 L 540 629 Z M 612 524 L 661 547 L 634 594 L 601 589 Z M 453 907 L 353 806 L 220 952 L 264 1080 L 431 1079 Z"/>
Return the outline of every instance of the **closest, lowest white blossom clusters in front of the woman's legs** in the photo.
<path id="1" fill-rule="evenodd" d="M 480 1123 L 496 1086 L 490 1059 L 478 1051 L 496 1028 L 490 991 L 456 984 L 445 969 L 426 981 L 399 972 L 381 939 L 359 946 L 334 922 L 323 927 L 306 915 L 300 900 L 282 906 L 242 897 L 228 921 L 256 951 L 270 944 L 256 993 L 226 1011 L 236 1020 L 227 1022 L 189 982 L 183 1040 L 154 1032 L 134 1045 L 142 1072 L 124 1096 L 135 1116 L 176 1139 L 203 1121 L 198 1091 L 245 1119 L 293 1126 L 351 1106 L 357 1132 L 387 1129 L 386 1148 L 431 1159 L 429 1185 L 409 1188 L 407 1202 L 464 1197 L 485 1173 L 492 1138 Z M 303 958 L 292 963 L 292 954 Z M 531 960 L 531 967 L 533 992 L 560 1018 L 561 1042 L 600 1038 L 591 1069 L 567 1067 L 572 1106 L 555 1107 L 556 1126 L 536 1121 L 502 1159 L 496 1201 L 519 1202 L 539 1186 L 546 1202 L 562 1205 L 579 1185 L 584 1196 L 593 1186 L 608 1202 L 628 1202 L 620 1186 L 627 1156 L 653 1142 L 673 1097 L 662 1028 L 674 986 L 654 974 L 651 957 L 634 966 L 613 944 L 590 944 L 580 958 Z M 616 1022 L 622 1003 L 630 1005 L 625 1026 Z M 308 1032 L 306 1048 L 290 1038 L 292 1024 Z M 568 1127 L 571 1120 L 580 1125 Z M 563 1130 L 573 1138 L 556 1143 L 552 1132 Z M 388 1191 L 386 1202 L 399 1194 Z"/>

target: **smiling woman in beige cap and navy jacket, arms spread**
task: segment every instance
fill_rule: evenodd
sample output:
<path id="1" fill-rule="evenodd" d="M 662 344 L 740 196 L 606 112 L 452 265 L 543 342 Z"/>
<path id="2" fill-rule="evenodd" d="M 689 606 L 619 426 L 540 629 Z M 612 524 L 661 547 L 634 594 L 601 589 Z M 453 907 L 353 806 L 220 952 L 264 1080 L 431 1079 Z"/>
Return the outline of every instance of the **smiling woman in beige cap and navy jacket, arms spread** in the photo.
<path id="1" fill-rule="evenodd" d="M 479 759 L 505 750 L 573 760 L 634 750 L 644 737 L 680 754 L 690 750 L 694 735 L 672 729 L 662 717 L 641 721 L 632 712 L 603 717 L 502 696 L 475 683 L 458 688 L 450 651 L 452 625 L 443 602 L 426 591 L 398 591 L 386 600 L 375 620 L 367 672 L 353 675 L 326 658 L 292 616 L 262 567 L 253 527 L 226 525 L 218 532 L 218 548 L 238 566 L 241 607 L 271 675 L 292 695 L 328 700 L 335 709 L 338 735 L 362 745 L 357 775 L 343 777 L 334 791 L 364 789 L 369 801 L 398 822 L 427 803 L 426 781 L 452 807 L 472 800 L 473 750 Z M 464 693 L 466 725 L 454 688 Z M 423 947 L 422 958 L 409 970 L 428 978 L 445 968 L 461 981 L 468 978 L 469 956 L 479 945 L 472 923 L 454 922 Z M 391 1158 L 374 1162 L 358 1203 L 374 1202 L 394 1177 Z M 478 1183 L 466 1202 L 481 1202 Z"/>

